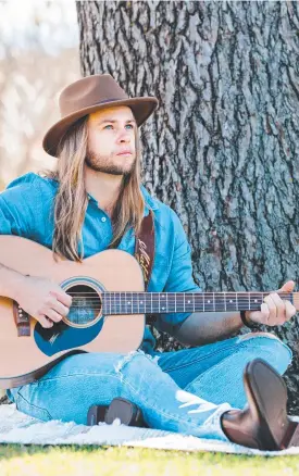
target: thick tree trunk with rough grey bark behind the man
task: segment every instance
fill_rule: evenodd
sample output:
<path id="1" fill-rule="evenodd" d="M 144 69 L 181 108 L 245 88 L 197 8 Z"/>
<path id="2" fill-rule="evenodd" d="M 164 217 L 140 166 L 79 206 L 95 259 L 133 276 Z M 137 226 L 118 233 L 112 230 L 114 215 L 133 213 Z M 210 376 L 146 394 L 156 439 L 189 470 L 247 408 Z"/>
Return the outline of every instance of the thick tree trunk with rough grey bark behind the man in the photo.
<path id="1" fill-rule="evenodd" d="M 77 2 L 83 75 L 110 73 L 160 108 L 142 127 L 145 185 L 179 215 L 202 290 L 299 276 L 297 2 Z M 277 328 L 294 350 L 298 321 Z"/>

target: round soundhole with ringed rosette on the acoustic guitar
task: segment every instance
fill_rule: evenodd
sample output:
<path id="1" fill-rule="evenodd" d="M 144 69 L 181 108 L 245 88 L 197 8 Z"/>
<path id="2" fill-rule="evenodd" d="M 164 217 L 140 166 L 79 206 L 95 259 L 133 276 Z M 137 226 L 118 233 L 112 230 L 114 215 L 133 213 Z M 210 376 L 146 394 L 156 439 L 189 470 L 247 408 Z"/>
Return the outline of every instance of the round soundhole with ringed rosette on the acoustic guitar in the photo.
<path id="1" fill-rule="evenodd" d="M 61 283 L 62 289 L 72 297 L 70 312 L 62 321 L 67 326 L 86 328 L 98 323 L 102 315 L 103 287 L 89 277 L 76 277 Z"/>

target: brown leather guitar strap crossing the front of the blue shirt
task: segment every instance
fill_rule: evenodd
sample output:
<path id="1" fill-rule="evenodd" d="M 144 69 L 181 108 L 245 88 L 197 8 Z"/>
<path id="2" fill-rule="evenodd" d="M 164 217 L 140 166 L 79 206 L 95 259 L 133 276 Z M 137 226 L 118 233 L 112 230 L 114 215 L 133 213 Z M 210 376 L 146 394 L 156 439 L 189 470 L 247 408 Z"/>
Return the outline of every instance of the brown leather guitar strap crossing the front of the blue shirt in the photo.
<path id="1" fill-rule="evenodd" d="M 144 217 L 141 229 L 136 236 L 135 258 L 141 266 L 145 279 L 145 290 L 147 291 L 154 259 L 154 225 L 151 210 L 149 214 Z M 146 315 L 147 324 L 153 324 L 155 320 L 157 317 L 154 314 Z"/>

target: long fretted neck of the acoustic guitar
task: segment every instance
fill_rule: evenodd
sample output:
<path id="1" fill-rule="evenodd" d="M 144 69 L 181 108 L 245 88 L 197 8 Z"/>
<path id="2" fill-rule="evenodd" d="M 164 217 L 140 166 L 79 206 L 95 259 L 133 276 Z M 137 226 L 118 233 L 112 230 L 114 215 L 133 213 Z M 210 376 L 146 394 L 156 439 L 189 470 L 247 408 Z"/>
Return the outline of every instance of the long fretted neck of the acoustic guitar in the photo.
<path id="1" fill-rule="evenodd" d="M 260 310 L 270 292 L 103 292 L 103 314 L 237 312 Z M 277 292 L 299 309 L 299 292 Z"/>

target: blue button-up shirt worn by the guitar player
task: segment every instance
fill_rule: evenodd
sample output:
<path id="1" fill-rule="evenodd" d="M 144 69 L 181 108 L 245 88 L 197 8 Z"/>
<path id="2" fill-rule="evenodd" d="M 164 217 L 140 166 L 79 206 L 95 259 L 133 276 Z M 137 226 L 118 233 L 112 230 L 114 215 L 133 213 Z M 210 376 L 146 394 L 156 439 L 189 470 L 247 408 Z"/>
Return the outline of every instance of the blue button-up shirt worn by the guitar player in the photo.
<path id="1" fill-rule="evenodd" d="M 52 248 L 54 221 L 53 199 L 58 181 L 27 173 L 13 181 L 0 193 L 0 235 L 17 235 Z M 176 213 L 166 204 L 151 197 L 141 187 L 145 198 L 145 216 L 151 209 L 154 214 L 155 255 L 149 292 L 199 292 L 192 278 L 190 246 Z M 112 239 L 109 215 L 88 195 L 89 202 L 83 225 L 84 258 L 108 248 Z M 123 237 L 120 250 L 134 255 L 135 235 L 130 228 Z M 182 324 L 190 313 L 160 314 L 155 327 L 165 330 L 169 325 Z M 146 326 L 141 349 L 151 353 L 155 345 Z"/>

